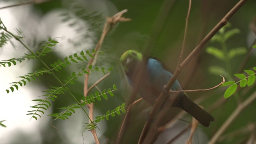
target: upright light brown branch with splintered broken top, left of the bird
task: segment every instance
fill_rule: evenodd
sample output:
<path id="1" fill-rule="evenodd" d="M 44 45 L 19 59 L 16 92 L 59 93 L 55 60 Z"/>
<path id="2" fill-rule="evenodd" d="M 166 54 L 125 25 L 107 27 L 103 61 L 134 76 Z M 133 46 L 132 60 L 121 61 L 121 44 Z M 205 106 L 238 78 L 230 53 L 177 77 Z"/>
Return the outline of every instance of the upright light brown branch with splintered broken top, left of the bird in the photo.
<path id="1" fill-rule="evenodd" d="M 104 41 L 104 38 L 106 37 L 106 35 L 110 32 L 110 30 L 112 30 L 112 28 L 118 23 L 118 22 L 124 22 L 124 21 L 129 21 L 131 19 L 129 18 L 124 18 L 122 17 L 122 14 L 124 14 L 125 12 L 127 12 L 127 10 L 122 10 L 121 12 L 118 12 L 117 14 L 115 14 L 114 16 L 112 16 L 111 18 L 106 18 L 106 23 L 104 24 L 104 28 L 102 30 L 102 34 L 100 37 L 100 40 L 98 41 L 97 45 L 95 46 L 94 50 L 95 52 L 98 52 L 102 46 L 102 43 Z M 92 54 L 93 57 L 95 57 L 96 53 Z M 90 76 L 90 72 L 91 70 L 89 69 L 89 66 L 94 64 L 97 60 L 96 58 L 90 58 L 88 64 L 87 64 L 87 72 L 89 72 L 89 74 L 85 74 L 84 76 L 84 96 L 87 96 L 89 91 L 92 90 L 92 88 L 94 88 L 96 86 L 96 84 L 98 84 L 99 82 L 101 82 L 104 78 L 106 78 L 109 74 L 106 74 L 106 76 L 102 77 L 100 80 L 98 80 L 96 83 L 94 83 L 94 85 L 92 85 L 89 89 L 88 89 L 88 82 L 89 82 L 89 76 Z M 93 118 L 93 103 L 91 104 L 86 104 L 88 109 L 89 109 L 89 116 L 91 119 L 89 119 L 89 123 L 92 123 L 92 118 Z M 91 117 L 92 116 L 92 117 Z M 94 140 L 97 144 L 99 144 L 99 140 L 96 134 L 96 130 L 91 130 L 92 135 L 94 137 Z"/>

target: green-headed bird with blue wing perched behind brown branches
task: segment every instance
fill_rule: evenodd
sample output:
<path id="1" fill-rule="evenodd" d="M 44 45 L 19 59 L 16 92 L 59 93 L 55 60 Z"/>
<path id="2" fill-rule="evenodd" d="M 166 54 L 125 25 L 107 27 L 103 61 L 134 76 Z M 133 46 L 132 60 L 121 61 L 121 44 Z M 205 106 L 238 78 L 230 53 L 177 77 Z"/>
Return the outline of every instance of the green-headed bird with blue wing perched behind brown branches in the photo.
<path id="1" fill-rule="evenodd" d="M 137 93 L 151 106 L 154 105 L 154 101 L 161 94 L 163 87 L 173 76 L 171 70 L 160 60 L 143 56 L 136 50 L 124 52 L 120 57 L 120 63 L 130 86 L 136 87 Z M 141 72 L 141 75 L 136 78 L 135 75 L 139 72 Z M 182 90 L 178 80 L 174 82 L 171 90 Z M 171 107 L 181 108 L 205 127 L 210 127 L 210 122 L 215 121 L 211 114 L 190 100 L 184 92 L 178 94 Z"/>

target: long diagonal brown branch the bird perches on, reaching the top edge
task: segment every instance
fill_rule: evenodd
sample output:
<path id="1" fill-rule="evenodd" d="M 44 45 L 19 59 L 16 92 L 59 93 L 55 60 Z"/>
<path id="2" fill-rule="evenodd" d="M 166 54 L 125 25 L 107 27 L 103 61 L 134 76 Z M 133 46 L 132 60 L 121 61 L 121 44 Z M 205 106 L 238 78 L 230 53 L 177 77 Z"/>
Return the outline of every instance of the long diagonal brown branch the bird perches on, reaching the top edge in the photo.
<path id="1" fill-rule="evenodd" d="M 239 8 L 242 7 L 242 5 L 246 2 L 247 0 L 240 0 L 229 12 L 220 20 L 220 22 L 204 37 L 204 39 L 196 46 L 196 48 L 187 56 L 187 58 L 177 66 L 172 78 L 169 80 L 167 85 L 165 86 L 166 91 L 169 91 L 174 84 L 175 80 L 178 78 L 181 70 L 190 62 L 190 60 L 202 50 L 203 46 L 222 28 L 224 25 L 227 24 L 227 21 L 238 11 Z M 160 104 L 164 101 L 165 97 L 167 94 L 164 94 L 163 92 L 160 94 L 160 96 L 155 100 L 154 106 L 150 112 L 149 119 L 153 119 L 154 116 L 156 115 L 158 108 L 160 107 Z M 142 134 L 140 136 L 139 143 L 142 142 L 144 137 L 146 136 L 149 127 L 150 127 L 151 122 L 146 122 L 144 125 L 144 128 L 142 130 Z M 154 128 L 153 128 L 154 129 Z"/>

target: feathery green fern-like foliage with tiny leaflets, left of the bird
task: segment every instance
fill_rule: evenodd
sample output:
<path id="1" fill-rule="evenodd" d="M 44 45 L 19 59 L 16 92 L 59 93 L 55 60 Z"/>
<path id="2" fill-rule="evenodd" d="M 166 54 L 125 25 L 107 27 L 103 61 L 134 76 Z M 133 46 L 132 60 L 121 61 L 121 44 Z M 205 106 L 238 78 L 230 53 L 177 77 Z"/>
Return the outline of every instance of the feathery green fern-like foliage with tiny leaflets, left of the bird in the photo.
<path id="1" fill-rule="evenodd" d="M 59 72 L 61 70 L 64 70 L 65 68 L 68 67 L 68 65 L 78 64 L 79 62 L 88 62 L 88 60 L 90 58 L 94 59 L 95 54 L 103 55 L 104 53 L 102 51 L 96 52 L 94 49 L 91 52 L 89 50 L 86 50 L 86 52 L 81 51 L 79 54 L 74 53 L 69 56 L 66 56 L 63 60 L 58 59 L 58 60 L 56 60 L 56 62 L 53 62 L 52 64 L 49 64 L 49 66 L 48 66 L 41 59 L 41 57 L 46 56 L 49 53 L 54 51 L 54 46 L 56 46 L 56 44 L 58 44 L 58 41 L 56 40 L 56 38 L 54 38 L 54 39 L 49 38 L 48 41 L 44 42 L 44 44 L 41 46 L 40 51 L 33 52 L 32 50 L 30 50 L 30 48 L 28 48 L 28 46 L 26 46 L 26 44 L 24 44 L 20 40 L 23 38 L 20 36 L 21 35 L 20 31 L 16 30 L 16 32 L 18 33 L 17 35 L 12 34 L 12 32 L 7 30 L 7 28 L 4 26 L 4 24 L 2 23 L 1 20 L 0 20 L 0 29 L 2 29 L 4 31 L 1 33 L 2 34 L 2 37 L 0 38 L 0 40 L 2 40 L 2 41 L 0 41 L 0 43 L 2 44 L 1 46 L 4 46 L 4 44 L 6 44 L 11 38 L 14 38 L 18 42 L 20 42 L 27 50 L 30 51 L 29 54 L 24 54 L 23 56 L 20 56 L 18 58 L 11 58 L 9 60 L 3 60 L 0 62 L 0 66 L 3 66 L 3 67 L 6 67 L 6 65 L 8 65 L 8 67 L 15 66 L 15 65 L 17 65 L 17 62 L 24 62 L 25 60 L 39 60 L 44 66 L 43 68 L 40 68 L 34 72 L 24 74 L 23 76 L 18 76 L 18 78 L 21 78 L 21 79 L 16 82 L 10 83 L 10 87 L 6 89 L 7 93 L 14 92 L 14 89 L 19 90 L 19 88 L 21 86 L 26 86 L 26 84 L 28 82 L 32 82 L 32 80 L 36 80 L 37 77 L 44 76 L 45 74 L 50 74 L 50 75 L 54 76 L 55 80 L 61 85 L 61 86 L 50 86 L 50 89 L 43 91 L 46 94 L 40 96 L 40 97 L 43 97 L 42 99 L 32 100 L 32 101 L 35 101 L 38 103 L 34 106 L 30 106 L 30 108 L 33 108 L 34 110 L 30 110 L 30 111 L 28 111 L 28 114 L 26 114 L 26 115 L 31 116 L 31 118 L 34 118 L 35 120 L 37 120 L 38 117 L 41 117 L 41 115 L 44 114 L 45 111 L 48 110 L 52 106 L 52 103 L 55 102 L 55 100 L 58 98 L 58 95 L 61 95 L 64 93 L 67 93 L 72 98 L 74 98 L 74 100 L 76 101 L 76 104 L 58 108 L 60 110 L 63 110 L 60 113 L 49 114 L 48 116 L 55 117 L 54 120 L 68 119 L 68 116 L 71 116 L 72 113 L 75 112 L 75 109 L 82 108 L 84 110 L 83 107 L 86 104 L 90 104 L 91 102 L 96 102 L 96 100 L 100 101 L 101 97 L 104 99 L 108 99 L 107 94 L 110 95 L 111 97 L 114 97 L 113 92 L 117 90 L 115 85 L 113 85 L 113 90 L 111 88 L 109 88 L 107 90 L 103 90 L 101 92 L 101 94 L 100 94 L 100 92 L 95 91 L 95 94 L 91 94 L 90 96 L 86 96 L 86 97 L 83 96 L 81 98 L 82 102 L 79 102 L 74 97 L 74 95 L 70 92 L 70 90 L 68 88 L 68 84 L 75 84 L 75 80 L 78 79 L 78 76 L 84 76 L 85 74 L 90 74 L 93 71 L 102 72 L 103 74 L 106 74 L 106 72 L 110 72 L 110 70 L 112 70 L 113 67 L 106 69 L 105 67 L 99 68 L 98 66 L 94 67 L 93 65 L 89 65 L 88 69 L 81 68 L 81 70 L 79 72 L 72 72 L 71 76 L 69 76 L 65 80 L 63 80 L 63 82 L 54 73 L 54 72 Z M 111 115 L 111 116 L 115 116 L 115 114 L 120 115 L 120 111 L 125 113 L 126 110 L 124 109 L 124 106 L 125 106 L 125 104 L 122 104 L 121 106 L 116 107 L 116 109 L 112 110 L 111 112 L 110 112 L 110 110 L 108 110 L 106 112 L 106 114 L 96 116 L 96 119 L 94 121 L 92 121 L 92 123 L 89 124 L 87 126 L 87 128 L 90 128 L 90 129 L 93 128 L 95 123 L 100 122 L 100 120 L 104 120 L 105 118 L 106 118 L 106 120 L 108 120 L 109 115 Z M 85 110 L 84 110 L 84 112 L 85 112 L 86 116 L 88 116 L 88 114 L 86 113 Z M 5 126 L 4 124 L 2 124 L 2 122 L 4 122 L 4 121 L 0 121 L 0 125 Z"/>

